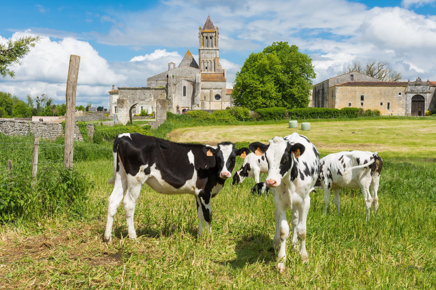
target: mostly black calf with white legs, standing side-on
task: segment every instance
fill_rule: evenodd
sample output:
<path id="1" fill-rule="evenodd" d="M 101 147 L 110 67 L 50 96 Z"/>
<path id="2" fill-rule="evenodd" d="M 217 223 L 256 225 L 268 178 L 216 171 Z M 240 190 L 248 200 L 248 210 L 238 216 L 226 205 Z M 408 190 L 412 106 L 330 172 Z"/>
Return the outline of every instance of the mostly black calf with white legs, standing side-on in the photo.
<path id="1" fill-rule="evenodd" d="M 108 220 L 103 240 L 112 240 L 113 217 L 124 197 L 127 229 L 131 239 L 136 238 L 133 213 L 141 187 L 147 183 L 158 193 L 193 194 L 197 200 L 198 235 L 204 225 L 211 232 L 211 197 L 222 189 L 232 176 L 235 157 L 248 148 L 235 149 L 230 142 L 218 146 L 173 143 L 139 133 L 119 134 L 113 144 L 114 184 L 108 205 Z"/>

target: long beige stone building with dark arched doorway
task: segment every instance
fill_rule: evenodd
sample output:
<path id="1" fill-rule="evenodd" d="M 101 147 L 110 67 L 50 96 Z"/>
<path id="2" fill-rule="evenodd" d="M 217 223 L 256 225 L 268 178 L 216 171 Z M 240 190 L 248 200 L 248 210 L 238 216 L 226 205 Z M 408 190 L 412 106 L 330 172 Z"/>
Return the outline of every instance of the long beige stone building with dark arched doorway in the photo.
<path id="1" fill-rule="evenodd" d="M 347 81 L 328 87 L 324 93 L 324 106 L 341 109 L 357 107 L 378 109 L 381 114 L 424 116 L 436 108 L 436 82 L 416 81 Z"/>

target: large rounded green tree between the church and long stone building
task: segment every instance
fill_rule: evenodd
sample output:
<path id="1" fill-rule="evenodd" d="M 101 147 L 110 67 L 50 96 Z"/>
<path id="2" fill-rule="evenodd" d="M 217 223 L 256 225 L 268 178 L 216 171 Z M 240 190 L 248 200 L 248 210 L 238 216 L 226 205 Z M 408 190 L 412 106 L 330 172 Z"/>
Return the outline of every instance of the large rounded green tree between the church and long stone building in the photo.
<path id="1" fill-rule="evenodd" d="M 307 107 L 315 77 L 312 59 L 307 54 L 287 42 L 274 42 L 245 60 L 236 73 L 232 98 L 236 106 L 251 110 Z"/>

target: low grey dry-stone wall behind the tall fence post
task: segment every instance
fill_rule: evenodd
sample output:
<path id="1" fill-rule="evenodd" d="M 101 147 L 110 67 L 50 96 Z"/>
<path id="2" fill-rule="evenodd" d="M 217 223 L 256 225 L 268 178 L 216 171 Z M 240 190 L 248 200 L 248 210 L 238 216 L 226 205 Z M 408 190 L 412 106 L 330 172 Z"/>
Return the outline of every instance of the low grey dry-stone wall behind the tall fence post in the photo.
<path id="1" fill-rule="evenodd" d="M 94 135 L 94 125 L 86 124 L 88 136 Z M 29 122 L 23 120 L 0 120 L 0 133 L 5 135 L 32 135 L 41 139 L 56 139 L 63 135 L 62 124 L 57 122 Z M 80 129 L 75 124 L 74 140 L 83 141 Z"/>

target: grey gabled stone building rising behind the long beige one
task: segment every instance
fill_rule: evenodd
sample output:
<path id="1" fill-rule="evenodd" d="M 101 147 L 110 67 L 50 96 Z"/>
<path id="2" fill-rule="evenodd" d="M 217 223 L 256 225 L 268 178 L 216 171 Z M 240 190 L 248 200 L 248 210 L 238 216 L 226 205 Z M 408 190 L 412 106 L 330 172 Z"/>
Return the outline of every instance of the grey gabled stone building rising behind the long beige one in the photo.
<path id="1" fill-rule="evenodd" d="M 338 83 L 353 81 L 381 81 L 375 77 L 368 76 L 364 73 L 359 73 L 358 71 L 352 71 L 350 73 L 344 73 L 337 77 L 331 77 L 328 80 L 324 80 L 316 85 L 313 85 L 312 90 L 312 100 L 309 102 L 309 107 L 317 108 L 330 108 L 327 105 L 327 99 L 331 99 L 331 94 L 329 95 L 328 88 L 337 85 Z M 330 90 L 331 91 L 331 90 Z"/>

